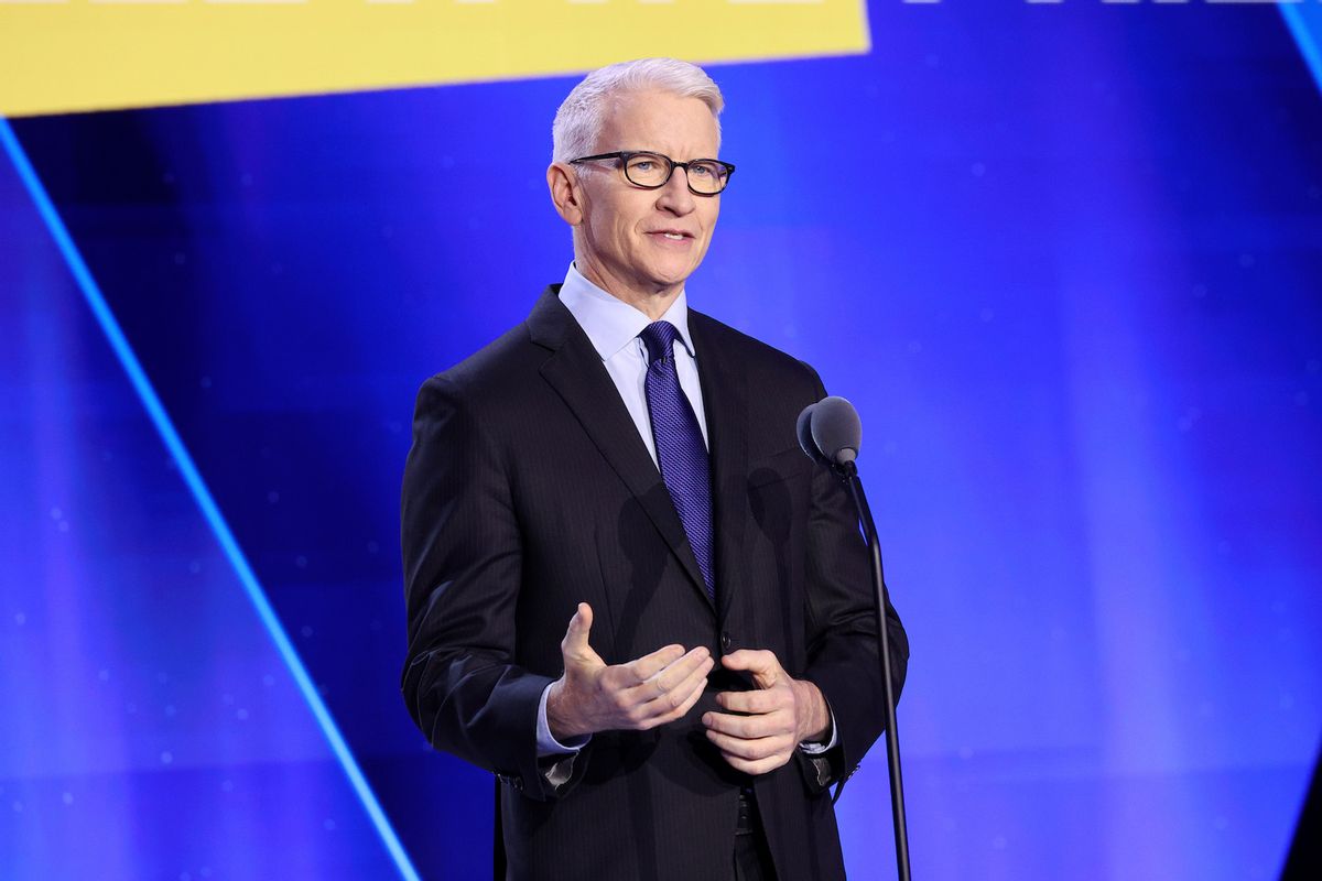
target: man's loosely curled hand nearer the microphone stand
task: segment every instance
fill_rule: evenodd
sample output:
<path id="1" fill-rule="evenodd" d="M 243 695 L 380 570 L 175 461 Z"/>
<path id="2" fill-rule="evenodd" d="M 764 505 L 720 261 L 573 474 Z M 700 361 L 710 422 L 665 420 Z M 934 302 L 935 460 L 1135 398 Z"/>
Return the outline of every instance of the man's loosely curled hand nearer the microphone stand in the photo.
<path id="1" fill-rule="evenodd" d="M 752 674 L 756 691 L 723 691 L 717 703 L 735 713 L 705 713 L 707 740 L 720 749 L 730 766 L 746 774 L 773 771 L 805 741 L 825 741 L 830 711 L 821 689 L 793 679 L 776 655 L 760 649 L 732 651 L 720 662 L 727 670 Z"/>

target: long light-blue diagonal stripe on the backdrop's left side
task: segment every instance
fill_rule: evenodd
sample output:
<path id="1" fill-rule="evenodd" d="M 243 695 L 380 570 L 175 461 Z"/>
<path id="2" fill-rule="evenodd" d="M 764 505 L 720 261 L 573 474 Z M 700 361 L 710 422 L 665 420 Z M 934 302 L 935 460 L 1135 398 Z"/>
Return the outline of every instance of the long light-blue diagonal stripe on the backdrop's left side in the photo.
<path id="1" fill-rule="evenodd" d="M 395 868 L 399 869 L 399 874 L 406 881 L 420 881 L 418 872 L 408 860 L 408 855 L 399 843 L 399 837 L 390 826 L 390 820 L 386 819 L 385 811 L 381 810 L 381 804 L 377 802 L 375 794 L 368 785 L 368 779 L 362 775 L 362 770 L 358 767 L 357 761 L 354 761 L 353 753 L 349 752 L 349 745 L 345 742 L 340 729 L 336 726 L 334 719 L 330 716 L 330 711 L 327 709 L 325 701 L 321 700 L 316 687 L 312 684 L 312 678 L 308 676 L 307 667 L 303 666 L 303 660 L 299 658 L 297 651 L 295 651 L 293 643 L 290 642 L 290 637 L 286 634 L 279 618 L 276 618 L 275 610 L 271 608 L 271 602 L 266 598 L 262 585 L 258 584 L 253 567 L 249 565 L 247 557 L 243 555 L 238 542 L 234 539 L 234 534 L 225 522 L 225 516 L 221 514 L 219 507 L 217 507 L 215 499 L 212 498 L 212 493 L 206 487 L 206 482 L 202 479 L 201 473 L 197 470 L 193 457 L 189 454 L 188 448 L 184 446 L 184 441 L 180 439 L 178 432 L 175 431 L 175 424 L 165 412 L 165 407 L 156 395 L 156 390 L 152 388 L 151 380 L 147 378 L 141 363 L 137 361 L 137 355 L 134 354 L 134 349 L 128 345 L 124 332 L 120 330 L 119 322 L 115 320 L 115 314 L 110 310 L 110 306 L 106 302 L 106 297 L 102 296 L 100 288 L 97 285 L 95 279 L 93 279 L 91 272 L 87 269 L 87 264 L 83 263 L 82 255 L 78 252 L 77 246 L 70 238 L 69 230 L 65 229 L 65 223 L 59 218 L 58 211 L 56 211 L 54 203 L 52 203 L 50 197 L 46 194 L 46 189 L 37 177 L 32 162 L 28 160 L 26 152 L 24 152 L 22 145 L 19 144 L 19 139 L 15 136 L 13 128 L 9 125 L 9 120 L 3 116 L 0 116 L 0 143 L 4 144 L 5 152 L 9 155 L 15 169 L 19 172 L 19 178 L 22 181 L 24 188 L 26 188 L 28 194 L 37 206 L 37 211 L 46 223 L 46 229 L 50 231 L 56 244 L 59 247 L 59 252 L 69 264 L 69 269 L 73 272 L 74 280 L 78 283 L 78 288 L 82 291 L 83 297 L 87 300 L 87 305 L 91 306 L 91 312 L 97 317 L 98 324 L 100 324 L 100 329 L 104 332 L 106 339 L 110 342 L 111 349 L 114 349 L 115 355 L 119 358 L 119 363 L 123 366 L 124 372 L 128 374 L 128 379 L 132 383 L 134 390 L 141 399 L 143 407 L 147 409 L 147 415 L 151 417 L 152 424 L 156 425 L 156 431 L 160 433 L 161 441 L 164 441 L 165 448 L 175 460 L 175 465 L 178 468 L 178 473 L 184 477 L 184 482 L 193 493 L 197 506 L 201 509 L 202 515 L 206 518 L 206 523 L 212 527 L 212 532 L 215 535 L 215 540 L 219 543 L 221 549 L 225 551 L 225 556 L 234 567 L 234 572 L 238 575 L 245 593 L 247 593 L 249 600 L 253 601 L 253 606 L 256 609 L 258 618 L 260 618 L 267 633 L 271 634 L 271 641 L 275 642 L 275 647 L 280 652 L 280 658 L 284 659 L 286 666 L 290 668 L 290 674 L 293 676 L 293 682 L 297 683 L 299 691 L 303 692 L 304 700 L 308 701 L 308 707 L 312 709 L 313 717 L 316 717 L 317 724 L 321 726 L 321 732 L 330 744 L 330 750 L 340 761 L 340 766 L 344 767 L 344 773 L 348 775 L 349 783 L 353 786 L 354 793 L 362 802 L 364 808 L 366 808 L 368 816 L 375 827 L 377 833 L 381 836 L 382 843 L 386 845 L 386 851 L 390 852 L 390 857 L 394 860 Z"/>

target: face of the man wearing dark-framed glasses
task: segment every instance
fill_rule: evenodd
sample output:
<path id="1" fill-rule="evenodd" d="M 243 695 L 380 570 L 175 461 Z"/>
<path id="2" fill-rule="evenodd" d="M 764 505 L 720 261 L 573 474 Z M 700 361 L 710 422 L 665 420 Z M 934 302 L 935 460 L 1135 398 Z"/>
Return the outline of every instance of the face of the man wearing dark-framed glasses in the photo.
<path id="1" fill-rule="evenodd" d="M 715 159 L 717 122 L 697 98 L 617 95 L 592 155 L 615 151 L 650 151 L 678 162 Z M 574 168 L 583 197 L 579 269 L 627 300 L 678 293 L 707 254 L 720 197 L 690 193 L 680 168 L 656 190 L 629 184 L 617 161 Z"/>

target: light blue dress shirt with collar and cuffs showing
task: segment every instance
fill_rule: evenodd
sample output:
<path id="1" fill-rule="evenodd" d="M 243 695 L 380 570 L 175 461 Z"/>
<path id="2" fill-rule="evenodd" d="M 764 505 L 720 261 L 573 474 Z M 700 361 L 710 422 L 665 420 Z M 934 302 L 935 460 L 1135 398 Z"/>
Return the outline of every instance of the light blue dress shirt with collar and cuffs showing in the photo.
<path id="1" fill-rule="evenodd" d="M 579 322 L 583 333 L 592 342 L 592 347 L 596 349 L 596 354 L 602 357 L 605 372 L 611 375 L 611 380 L 624 400 L 624 407 L 633 417 L 633 424 L 637 427 L 642 442 L 648 446 L 652 462 L 660 469 L 656 441 L 652 439 L 652 416 L 648 412 L 648 398 L 644 387 L 648 376 L 648 349 L 639 338 L 642 329 L 652 324 L 652 318 L 588 281 L 572 263 L 564 275 L 564 284 L 561 285 L 561 302 Z M 710 449 L 707 416 L 702 405 L 702 387 L 698 383 L 697 351 L 693 347 L 693 337 L 689 335 L 689 300 L 685 291 L 680 292 L 660 321 L 669 321 L 680 332 L 676 342 L 683 345 L 676 345 L 676 372 L 680 375 L 680 387 L 698 417 L 702 442 Z M 550 686 L 542 691 L 542 701 L 537 709 L 537 753 L 543 758 L 574 754 L 587 745 L 591 734 L 574 738 L 567 744 L 562 744 L 551 736 L 551 728 L 546 721 L 546 697 L 550 691 Z M 833 717 L 829 744 L 825 746 L 800 744 L 800 748 L 809 753 L 824 753 L 834 745 L 836 720 Z M 551 775 L 551 782 L 555 783 L 555 777 L 567 778 L 568 771 L 567 769 L 561 771 L 557 766 Z"/>

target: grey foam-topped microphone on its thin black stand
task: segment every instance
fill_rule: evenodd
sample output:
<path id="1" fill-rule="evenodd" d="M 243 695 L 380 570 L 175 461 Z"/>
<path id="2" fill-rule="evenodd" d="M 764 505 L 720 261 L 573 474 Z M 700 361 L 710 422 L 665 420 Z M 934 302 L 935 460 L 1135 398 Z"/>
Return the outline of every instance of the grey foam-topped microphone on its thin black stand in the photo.
<path id="1" fill-rule="evenodd" d="M 891 684 L 890 633 L 886 629 L 886 576 L 882 572 L 882 543 L 876 538 L 876 523 L 867 507 L 863 482 L 858 478 L 858 450 L 863 440 L 863 423 L 858 411 L 843 398 L 822 398 L 804 407 L 795 423 L 798 445 L 808 458 L 825 465 L 845 483 L 854 499 L 859 524 L 867 538 L 869 563 L 873 575 L 873 608 L 876 622 L 878 662 L 882 691 L 886 697 L 886 765 L 891 783 L 891 822 L 895 831 L 895 866 L 899 881 L 910 881 L 908 820 L 904 814 L 904 779 L 900 773 L 900 741 L 895 729 L 895 688 Z M 841 785 L 843 787 L 843 783 Z M 839 789 L 836 798 L 839 798 Z"/>

